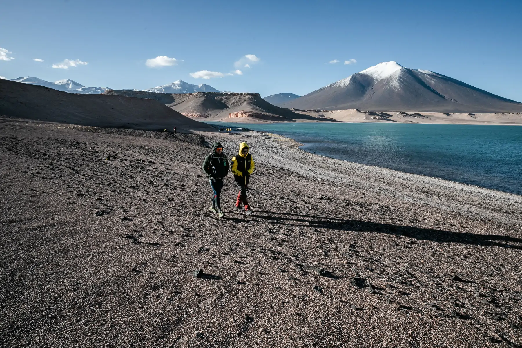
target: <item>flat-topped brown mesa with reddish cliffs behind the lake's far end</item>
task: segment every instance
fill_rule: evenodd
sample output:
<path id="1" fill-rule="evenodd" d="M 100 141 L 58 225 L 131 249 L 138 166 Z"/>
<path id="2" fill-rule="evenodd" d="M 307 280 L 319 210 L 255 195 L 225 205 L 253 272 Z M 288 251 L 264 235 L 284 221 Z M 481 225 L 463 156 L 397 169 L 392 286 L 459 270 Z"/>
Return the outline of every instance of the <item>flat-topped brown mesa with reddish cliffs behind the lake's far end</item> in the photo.
<path id="1" fill-rule="evenodd" d="M 315 121 L 310 115 L 295 113 L 275 106 L 260 97 L 259 93 L 197 92 L 197 93 L 155 93 L 143 91 L 108 90 L 105 94 L 158 100 L 185 115 L 196 115 L 214 121 L 244 121 L 245 117 L 229 118 L 229 113 L 248 111 L 257 114 L 255 118 L 269 121 Z M 249 117 L 250 118 L 250 117 Z M 325 120 L 329 121 L 329 120 Z"/>

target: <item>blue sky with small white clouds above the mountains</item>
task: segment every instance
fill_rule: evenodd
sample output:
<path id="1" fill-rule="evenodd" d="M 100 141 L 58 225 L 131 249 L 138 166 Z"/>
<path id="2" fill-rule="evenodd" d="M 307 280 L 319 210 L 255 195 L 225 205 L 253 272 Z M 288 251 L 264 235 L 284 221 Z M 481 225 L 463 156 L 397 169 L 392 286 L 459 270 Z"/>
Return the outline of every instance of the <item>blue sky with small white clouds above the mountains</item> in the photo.
<path id="1" fill-rule="evenodd" d="M 303 95 L 396 61 L 522 101 L 521 1 L 0 0 L 0 8 L 0 76 L 8 79 L 114 89 L 182 79 Z M 158 56 L 149 65 L 164 66 L 147 66 Z"/>

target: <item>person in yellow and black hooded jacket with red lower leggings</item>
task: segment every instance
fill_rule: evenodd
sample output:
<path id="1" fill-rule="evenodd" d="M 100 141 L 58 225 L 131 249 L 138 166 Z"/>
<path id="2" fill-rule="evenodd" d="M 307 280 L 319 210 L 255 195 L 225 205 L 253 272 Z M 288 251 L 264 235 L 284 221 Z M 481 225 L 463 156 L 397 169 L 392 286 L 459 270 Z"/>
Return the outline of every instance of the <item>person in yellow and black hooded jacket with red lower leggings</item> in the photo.
<path id="1" fill-rule="evenodd" d="M 235 182 L 239 186 L 238 199 L 235 202 L 234 210 L 241 210 L 241 203 L 243 203 L 245 213 L 250 215 L 252 214 L 252 209 L 248 206 L 248 201 L 246 200 L 246 190 L 248 189 L 248 183 L 250 183 L 250 175 L 254 172 L 255 162 L 248 150 L 250 148 L 246 142 L 240 143 L 239 154 L 232 158 L 231 163 Z"/>

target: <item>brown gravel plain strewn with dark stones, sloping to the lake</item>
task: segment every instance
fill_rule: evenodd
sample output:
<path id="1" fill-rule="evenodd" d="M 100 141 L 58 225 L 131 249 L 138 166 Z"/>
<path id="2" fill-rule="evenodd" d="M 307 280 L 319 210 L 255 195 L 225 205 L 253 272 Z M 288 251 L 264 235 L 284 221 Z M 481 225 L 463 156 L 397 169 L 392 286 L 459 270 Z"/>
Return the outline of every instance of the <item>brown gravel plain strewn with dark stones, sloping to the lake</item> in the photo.
<path id="1" fill-rule="evenodd" d="M 298 145 L 0 119 L 0 346 L 522 346 L 521 196 Z"/>

